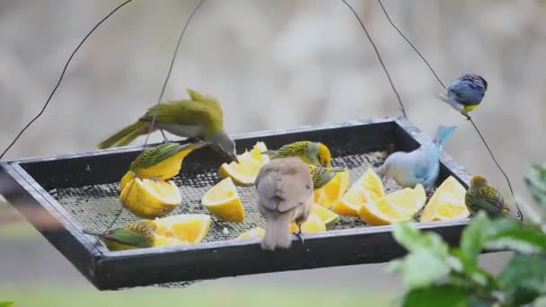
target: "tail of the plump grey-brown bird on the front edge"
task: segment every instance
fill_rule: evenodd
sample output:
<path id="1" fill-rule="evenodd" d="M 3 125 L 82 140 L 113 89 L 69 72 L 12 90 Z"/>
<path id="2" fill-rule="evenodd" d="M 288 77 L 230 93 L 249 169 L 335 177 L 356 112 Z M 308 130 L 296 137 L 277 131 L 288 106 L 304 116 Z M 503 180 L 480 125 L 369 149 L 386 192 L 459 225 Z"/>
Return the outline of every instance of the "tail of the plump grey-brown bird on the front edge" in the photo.
<path id="1" fill-rule="evenodd" d="M 261 247 L 264 250 L 275 250 L 277 247 L 287 249 L 290 247 L 292 240 L 288 233 L 290 215 L 284 213 L 282 215 L 270 216 L 266 222 L 266 233 Z"/>

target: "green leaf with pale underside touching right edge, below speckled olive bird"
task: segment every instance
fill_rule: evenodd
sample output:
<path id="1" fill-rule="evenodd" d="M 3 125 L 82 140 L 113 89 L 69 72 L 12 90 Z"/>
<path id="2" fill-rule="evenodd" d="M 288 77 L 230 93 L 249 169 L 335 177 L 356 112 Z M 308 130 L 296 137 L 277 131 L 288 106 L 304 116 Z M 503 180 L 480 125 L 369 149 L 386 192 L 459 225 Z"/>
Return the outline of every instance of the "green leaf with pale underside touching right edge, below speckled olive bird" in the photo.
<path id="1" fill-rule="evenodd" d="M 524 254 L 546 252 L 546 233 L 530 228 L 501 231 L 489 240 L 487 247 L 514 250 Z"/>

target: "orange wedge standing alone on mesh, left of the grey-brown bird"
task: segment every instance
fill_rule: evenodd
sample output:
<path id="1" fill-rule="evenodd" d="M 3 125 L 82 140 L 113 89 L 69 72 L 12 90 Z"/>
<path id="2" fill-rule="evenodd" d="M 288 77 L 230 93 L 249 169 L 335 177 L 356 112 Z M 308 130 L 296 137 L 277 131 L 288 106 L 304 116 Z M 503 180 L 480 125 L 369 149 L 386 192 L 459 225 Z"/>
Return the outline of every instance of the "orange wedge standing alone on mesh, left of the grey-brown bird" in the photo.
<path id="1" fill-rule="evenodd" d="M 244 207 L 233 180 L 228 177 L 212 187 L 201 198 L 201 204 L 223 221 L 244 221 Z"/>

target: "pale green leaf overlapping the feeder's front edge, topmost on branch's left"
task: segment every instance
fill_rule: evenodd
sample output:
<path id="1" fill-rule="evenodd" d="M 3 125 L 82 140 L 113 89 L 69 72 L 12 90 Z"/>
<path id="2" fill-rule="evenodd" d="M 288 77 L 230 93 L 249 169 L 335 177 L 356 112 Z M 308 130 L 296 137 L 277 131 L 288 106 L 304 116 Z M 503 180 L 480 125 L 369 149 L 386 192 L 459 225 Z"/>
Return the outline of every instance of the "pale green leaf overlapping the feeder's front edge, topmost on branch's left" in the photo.
<path id="1" fill-rule="evenodd" d="M 430 250 L 438 255 L 447 256 L 449 247 L 435 232 L 421 232 L 414 224 L 402 222 L 394 224 L 394 239 L 410 252 Z"/>

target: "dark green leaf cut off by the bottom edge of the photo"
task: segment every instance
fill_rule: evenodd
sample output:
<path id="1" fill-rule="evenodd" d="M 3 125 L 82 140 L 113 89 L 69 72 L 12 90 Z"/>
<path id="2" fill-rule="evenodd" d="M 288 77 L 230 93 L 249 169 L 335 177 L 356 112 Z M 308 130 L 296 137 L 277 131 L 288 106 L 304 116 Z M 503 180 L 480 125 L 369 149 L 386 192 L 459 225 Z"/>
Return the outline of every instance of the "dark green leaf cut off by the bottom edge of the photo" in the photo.
<path id="1" fill-rule="evenodd" d="M 436 285 L 425 289 L 411 290 L 404 296 L 404 307 L 466 307 L 469 295 L 462 288 L 452 285 Z"/>

